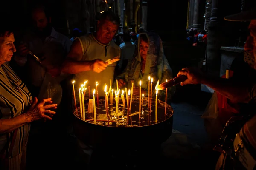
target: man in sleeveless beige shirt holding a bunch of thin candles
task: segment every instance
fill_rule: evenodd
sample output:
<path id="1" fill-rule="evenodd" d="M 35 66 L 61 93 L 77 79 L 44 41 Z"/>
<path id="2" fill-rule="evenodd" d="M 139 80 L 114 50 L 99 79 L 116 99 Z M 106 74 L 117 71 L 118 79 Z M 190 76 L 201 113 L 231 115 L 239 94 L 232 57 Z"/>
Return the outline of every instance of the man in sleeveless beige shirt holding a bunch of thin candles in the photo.
<path id="1" fill-rule="evenodd" d="M 105 61 L 120 57 L 119 46 L 111 41 L 118 31 L 119 24 L 118 16 L 112 12 L 104 12 L 98 21 L 95 33 L 77 37 L 73 42 L 61 71 L 75 74 L 77 95 L 80 85 L 86 80 L 91 94 L 96 82 L 99 83 L 99 96 L 105 95 L 104 84 L 109 85 L 110 79 L 113 82 L 116 63 L 106 65 Z"/>

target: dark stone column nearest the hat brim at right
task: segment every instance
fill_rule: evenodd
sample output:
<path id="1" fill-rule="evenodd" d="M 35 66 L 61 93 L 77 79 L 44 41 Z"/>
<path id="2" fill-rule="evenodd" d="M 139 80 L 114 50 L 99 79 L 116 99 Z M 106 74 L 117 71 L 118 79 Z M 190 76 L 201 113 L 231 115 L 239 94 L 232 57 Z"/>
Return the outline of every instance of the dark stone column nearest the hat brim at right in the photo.
<path id="1" fill-rule="evenodd" d="M 221 28 L 218 21 L 218 0 L 212 0 L 211 18 L 208 26 L 206 70 L 209 74 L 220 76 L 221 68 Z"/>

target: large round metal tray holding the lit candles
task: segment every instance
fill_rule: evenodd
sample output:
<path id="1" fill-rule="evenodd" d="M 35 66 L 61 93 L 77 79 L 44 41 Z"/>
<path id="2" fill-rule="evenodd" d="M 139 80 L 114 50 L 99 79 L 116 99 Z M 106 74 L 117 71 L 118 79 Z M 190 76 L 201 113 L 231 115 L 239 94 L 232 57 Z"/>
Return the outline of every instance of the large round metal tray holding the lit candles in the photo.
<path id="1" fill-rule="evenodd" d="M 94 114 L 88 113 L 88 100 L 85 100 L 85 118 L 81 118 L 80 107 L 73 112 L 75 116 L 74 133 L 78 139 L 94 147 L 109 147 L 116 149 L 138 148 L 145 145 L 160 144 L 172 134 L 173 109 L 165 102 L 157 102 L 157 122 L 155 118 L 155 99 L 151 102 L 151 113 L 148 98 L 144 97 L 139 119 L 139 97 L 133 96 L 131 111 L 127 116 L 127 103 L 122 105 L 121 98 L 116 114 L 116 102 L 108 106 L 108 116 L 105 107 L 105 97 L 99 97 L 96 102 L 96 124 Z M 78 104 L 79 105 L 79 104 Z M 128 118 L 129 117 L 129 118 Z M 108 124 L 109 122 L 109 124 Z"/>

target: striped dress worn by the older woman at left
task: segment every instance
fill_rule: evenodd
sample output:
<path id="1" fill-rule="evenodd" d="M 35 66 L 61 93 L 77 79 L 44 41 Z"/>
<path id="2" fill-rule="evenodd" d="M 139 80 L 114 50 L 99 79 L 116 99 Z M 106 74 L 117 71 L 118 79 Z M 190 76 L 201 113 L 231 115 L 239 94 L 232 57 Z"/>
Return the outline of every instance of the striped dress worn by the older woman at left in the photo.
<path id="1" fill-rule="evenodd" d="M 26 85 L 7 63 L 2 64 L 0 67 L 0 119 L 12 119 L 25 113 L 29 108 L 30 100 L 32 100 L 32 96 Z M 20 169 L 21 153 L 26 153 L 24 148 L 26 148 L 29 128 L 29 124 L 18 128 L 15 145 L 12 153 L 9 153 L 11 156 L 9 169 Z M 10 142 L 12 133 L 0 134 L 0 151 L 3 150 L 6 142 Z M 6 149 L 5 154 L 8 153 L 9 148 Z M 14 164 L 16 167 L 13 167 Z"/>

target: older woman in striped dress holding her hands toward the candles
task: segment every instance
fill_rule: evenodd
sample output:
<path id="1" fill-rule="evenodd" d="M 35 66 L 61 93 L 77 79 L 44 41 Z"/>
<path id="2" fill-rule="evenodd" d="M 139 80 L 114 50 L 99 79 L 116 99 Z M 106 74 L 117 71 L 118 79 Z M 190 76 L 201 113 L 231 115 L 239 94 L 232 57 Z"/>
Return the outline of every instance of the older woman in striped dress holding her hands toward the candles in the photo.
<path id="1" fill-rule="evenodd" d="M 15 74 L 8 62 L 16 51 L 14 35 L 7 23 L 0 28 L 0 169 L 23 170 L 30 122 L 52 119 L 56 109 L 52 99 L 38 102 Z"/>

